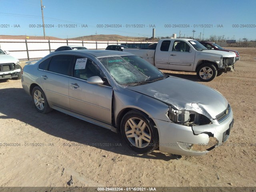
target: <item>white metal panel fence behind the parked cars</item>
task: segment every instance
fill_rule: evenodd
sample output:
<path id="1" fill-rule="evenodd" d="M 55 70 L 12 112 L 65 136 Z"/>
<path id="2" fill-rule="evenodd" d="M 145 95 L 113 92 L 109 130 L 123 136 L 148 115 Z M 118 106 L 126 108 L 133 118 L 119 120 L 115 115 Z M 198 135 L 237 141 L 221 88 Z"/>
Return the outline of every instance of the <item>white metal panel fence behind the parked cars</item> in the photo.
<path id="1" fill-rule="evenodd" d="M 40 59 L 48 55 L 51 51 L 60 46 L 79 45 L 88 49 L 105 49 L 108 45 L 134 43 L 126 41 L 78 41 L 78 40 L 10 40 L 1 39 L 0 48 L 4 51 L 10 51 L 10 55 L 19 60 Z M 149 42 L 136 42 L 149 43 Z"/>

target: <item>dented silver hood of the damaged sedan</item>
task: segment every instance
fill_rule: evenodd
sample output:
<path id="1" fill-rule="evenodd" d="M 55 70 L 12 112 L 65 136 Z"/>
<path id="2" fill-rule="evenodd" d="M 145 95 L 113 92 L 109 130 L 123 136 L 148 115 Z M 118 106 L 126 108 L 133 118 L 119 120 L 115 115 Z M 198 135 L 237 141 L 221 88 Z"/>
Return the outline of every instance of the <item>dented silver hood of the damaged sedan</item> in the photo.
<path id="1" fill-rule="evenodd" d="M 170 104 L 178 110 L 196 111 L 210 119 L 215 119 L 228 106 L 228 101 L 220 92 L 176 77 L 127 88 Z"/>

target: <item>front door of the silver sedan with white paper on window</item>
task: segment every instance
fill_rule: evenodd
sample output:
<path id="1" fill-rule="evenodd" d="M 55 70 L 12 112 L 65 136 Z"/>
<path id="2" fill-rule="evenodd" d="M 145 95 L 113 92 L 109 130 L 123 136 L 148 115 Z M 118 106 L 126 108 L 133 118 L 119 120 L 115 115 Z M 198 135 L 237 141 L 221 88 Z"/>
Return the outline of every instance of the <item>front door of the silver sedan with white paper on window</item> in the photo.
<path id="1" fill-rule="evenodd" d="M 100 68 L 89 58 L 76 56 L 69 80 L 70 108 L 72 112 L 111 124 L 112 87 Z M 100 76 L 103 85 L 90 84 L 87 79 Z"/>

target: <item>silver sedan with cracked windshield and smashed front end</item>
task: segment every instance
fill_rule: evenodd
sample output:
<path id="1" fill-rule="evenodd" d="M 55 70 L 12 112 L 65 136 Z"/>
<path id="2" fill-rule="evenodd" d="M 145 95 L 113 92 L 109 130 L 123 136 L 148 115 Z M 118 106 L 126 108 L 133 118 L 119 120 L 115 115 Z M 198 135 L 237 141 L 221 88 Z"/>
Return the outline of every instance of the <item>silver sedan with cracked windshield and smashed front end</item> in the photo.
<path id="1" fill-rule="evenodd" d="M 139 153 L 200 156 L 225 142 L 234 122 L 218 91 L 126 52 L 53 52 L 24 67 L 22 86 L 38 112 L 55 109 L 121 132 Z"/>

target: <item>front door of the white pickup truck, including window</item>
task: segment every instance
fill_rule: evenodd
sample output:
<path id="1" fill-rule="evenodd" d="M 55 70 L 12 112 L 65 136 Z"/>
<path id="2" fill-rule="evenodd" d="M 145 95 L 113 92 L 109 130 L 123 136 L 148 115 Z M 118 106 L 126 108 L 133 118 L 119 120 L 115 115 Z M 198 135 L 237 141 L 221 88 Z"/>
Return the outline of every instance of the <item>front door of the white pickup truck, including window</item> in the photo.
<path id="1" fill-rule="evenodd" d="M 192 71 L 196 51 L 187 42 L 174 41 L 169 57 L 170 70 Z"/>

